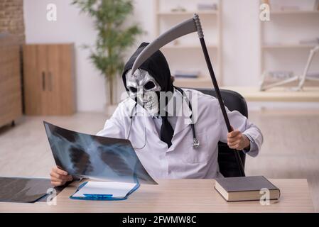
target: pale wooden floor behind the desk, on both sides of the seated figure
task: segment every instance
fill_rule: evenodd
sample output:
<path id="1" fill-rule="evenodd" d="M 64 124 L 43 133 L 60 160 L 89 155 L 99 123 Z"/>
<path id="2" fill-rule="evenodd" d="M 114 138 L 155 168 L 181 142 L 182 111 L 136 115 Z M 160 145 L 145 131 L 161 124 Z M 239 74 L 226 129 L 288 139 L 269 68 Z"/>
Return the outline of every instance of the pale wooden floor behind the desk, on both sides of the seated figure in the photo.
<path id="1" fill-rule="evenodd" d="M 54 165 L 43 120 L 84 133 L 97 133 L 107 116 L 81 113 L 61 117 L 26 117 L 0 128 L 0 176 L 48 177 Z M 319 212 L 319 111 L 249 113 L 264 134 L 258 157 L 247 157 L 247 175 L 307 178 Z"/>

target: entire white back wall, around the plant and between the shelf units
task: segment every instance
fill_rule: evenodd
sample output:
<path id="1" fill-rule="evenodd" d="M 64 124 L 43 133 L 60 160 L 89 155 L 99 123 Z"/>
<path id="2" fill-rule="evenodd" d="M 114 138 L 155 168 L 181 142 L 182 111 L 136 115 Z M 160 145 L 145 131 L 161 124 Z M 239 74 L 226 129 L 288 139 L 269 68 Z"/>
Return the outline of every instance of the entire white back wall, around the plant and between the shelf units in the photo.
<path id="1" fill-rule="evenodd" d="M 165 0 L 162 0 L 165 1 Z M 75 43 L 78 111 L 102 111 L 105 104 L 104 78 L 80 48 L 92 44 L 95 32 L 91 18 L 80 14 L 70 0 L 24 0 L 26 43 Z M 259 82 L 259 0 L 223 0 L 223 70 L 226 86 L 257 86 Z M 46 20 L 46 6 L 58 7 L 58 21 Z M 135 0 L 134 21 L 147 31 L 140 41 L 151 41 L 153 1 Z M 139 45 L 140 41 L 136 43 Z M 129 51 L 128 55 L 136 47 Z M 121 86 L 121 80 L 119 81 Z"/>

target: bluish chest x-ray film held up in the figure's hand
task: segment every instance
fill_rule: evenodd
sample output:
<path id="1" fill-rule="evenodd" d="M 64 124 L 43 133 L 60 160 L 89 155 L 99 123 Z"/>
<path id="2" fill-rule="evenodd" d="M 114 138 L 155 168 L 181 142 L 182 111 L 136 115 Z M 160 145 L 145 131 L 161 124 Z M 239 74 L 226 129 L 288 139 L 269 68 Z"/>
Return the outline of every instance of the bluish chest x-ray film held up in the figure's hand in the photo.
<path id="1" fill-rule="evenodd" d="M 75 177 L 157 184 L 129 140 L 77 133 L 43 122 L 56 165 Z"/>

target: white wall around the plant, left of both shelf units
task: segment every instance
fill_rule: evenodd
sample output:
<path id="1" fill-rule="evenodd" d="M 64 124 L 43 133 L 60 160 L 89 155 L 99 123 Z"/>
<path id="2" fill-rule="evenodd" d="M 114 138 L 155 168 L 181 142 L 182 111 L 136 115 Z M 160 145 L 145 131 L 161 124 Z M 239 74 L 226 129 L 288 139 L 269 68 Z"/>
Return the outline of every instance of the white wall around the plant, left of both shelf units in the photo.
<path id="1" fill-rule="evenodd" d="M 26 26 L 26 43 L 75 43 L 75 73 L 78 111 L 103 111 L 106 102 L 104 78 L 88 60 L 89 50 L 81 45 L 92 45 L 95 31 L 92 19 L 71 5 L 70 0 L 24 0 L 23 11 Z M 46 6 L 57 6 L 57 21 L 46 19 Z M 141 21 L 145 31 L 151 31 L 151 1 L 136 1 L 136 21 Z M 145 22 L 144 22 L 145 21 Z M 148 33 L 146 38 L 152 33 Z M 119 87 L 120 84 L 119 84 Z"/>

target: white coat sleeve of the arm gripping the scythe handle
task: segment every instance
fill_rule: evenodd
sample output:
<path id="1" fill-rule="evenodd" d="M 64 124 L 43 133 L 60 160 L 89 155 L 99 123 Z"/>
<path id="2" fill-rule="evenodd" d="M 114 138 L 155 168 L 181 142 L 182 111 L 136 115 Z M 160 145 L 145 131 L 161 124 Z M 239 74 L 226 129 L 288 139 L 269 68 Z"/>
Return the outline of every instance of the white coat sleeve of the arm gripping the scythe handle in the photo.
<path id="1" fill-rule="evenodd" d="M 261 149 L 261 145 L 263 143 L 263 135 L 260 131 L 260 129 L 254 125 L 254 123 L 251 123 L 248 121 L 247 117 L 243 116 L 239 113 L 239 111 L 229 111 L 227 109 L 227 116 L 229 118 L 230 125 L 234 128 L 234 130 L 238 129 L 242 134 L 246 135 L 247 138 L 250 140 L 250 150 L 243 150 L 244 153 L 247 153 L 248 155 L 255 157 L 258 155 L 259 150 Z M 222 128 L 222 135 L 221 140 L 224 143 L 227 143 L 227 127 L 224 121 L 224 118 L 222 116 L 222 111 L 219 111 L 220 114 L 218 115 L 220 117 L 220 127 Z"/>

